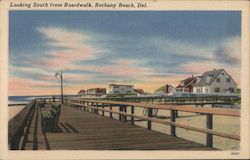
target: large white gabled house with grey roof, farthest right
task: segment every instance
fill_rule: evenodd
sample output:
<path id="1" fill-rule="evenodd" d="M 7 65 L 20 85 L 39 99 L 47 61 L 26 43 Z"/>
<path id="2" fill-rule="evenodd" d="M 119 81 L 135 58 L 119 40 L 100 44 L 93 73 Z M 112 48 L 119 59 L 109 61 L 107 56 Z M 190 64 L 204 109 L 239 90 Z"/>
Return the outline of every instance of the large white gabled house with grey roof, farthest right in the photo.
<path id="1" fill-rule="evenodd" d="M 235 93 L 237 83 L 224 69 L 203 73 L 194 84 L 194 93 Z"/>

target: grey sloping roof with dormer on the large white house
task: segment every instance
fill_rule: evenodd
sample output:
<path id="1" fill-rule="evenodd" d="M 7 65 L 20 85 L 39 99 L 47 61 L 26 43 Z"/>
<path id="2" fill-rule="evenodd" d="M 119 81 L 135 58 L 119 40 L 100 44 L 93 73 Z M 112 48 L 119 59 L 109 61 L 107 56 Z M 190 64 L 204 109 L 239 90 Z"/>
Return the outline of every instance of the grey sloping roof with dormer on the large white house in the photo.
<path id="1" fill-rule="evenodd" d="M 217 78 L 217 76 L 224 71 L 224 69 L 214 69 L 212 71 L 208 71 L 203 73 L 203 75 L 201 76 L 201 80 L 197 83 L 194 84 L 194 87 L 199 87 L 199 86 L 210 86 L 213 81 Z M 207 81 L 207 77 L 210 77 L 210 80 Z"/>

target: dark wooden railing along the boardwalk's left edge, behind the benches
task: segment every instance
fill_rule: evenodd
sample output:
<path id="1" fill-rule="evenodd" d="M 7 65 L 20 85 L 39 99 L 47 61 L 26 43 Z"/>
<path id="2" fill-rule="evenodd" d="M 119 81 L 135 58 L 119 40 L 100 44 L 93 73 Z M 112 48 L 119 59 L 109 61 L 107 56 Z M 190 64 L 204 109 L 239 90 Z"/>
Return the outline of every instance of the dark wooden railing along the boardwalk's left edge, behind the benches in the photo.
<path id="1" fill-rule="evenodd" d="M 35 106 L 36 100 L 31 101 L 23 110 L 21 110 L 9 121 L 8 142 L 10 149 L 22 148 L 22 141 L 25 139 L 25 134 L 29 130 Z"/>

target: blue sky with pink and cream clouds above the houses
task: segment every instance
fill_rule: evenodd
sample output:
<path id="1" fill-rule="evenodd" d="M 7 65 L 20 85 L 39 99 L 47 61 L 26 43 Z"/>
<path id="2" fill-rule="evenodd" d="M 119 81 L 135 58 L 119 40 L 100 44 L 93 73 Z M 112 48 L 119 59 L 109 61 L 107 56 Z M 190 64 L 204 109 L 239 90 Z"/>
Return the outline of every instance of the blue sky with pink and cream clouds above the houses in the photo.
<path id="1" fill-rule="evenodd" d="M 162 85 L 225 69 L 240 87 L 238 11 L 10 11 L 9 95 Z"/>

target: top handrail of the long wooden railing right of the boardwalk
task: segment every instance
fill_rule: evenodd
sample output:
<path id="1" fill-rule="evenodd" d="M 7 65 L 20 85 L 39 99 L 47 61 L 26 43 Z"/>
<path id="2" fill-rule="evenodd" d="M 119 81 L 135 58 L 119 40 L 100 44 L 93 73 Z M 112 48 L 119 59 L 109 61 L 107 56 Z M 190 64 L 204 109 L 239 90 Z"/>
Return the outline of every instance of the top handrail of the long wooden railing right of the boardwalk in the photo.
<path id="1" fill-rule="evenodd" d="M 223 115 L 223 116 L 237 116 L 240 117 L 239 109 L 228 109 L 228 108 L 198 108 L 192 106 L 174 106 L 174 105 L 162 105 L 162 104 L 149 104 L 149 103 L 136 103 L 136 102 L 121 102 L 121 101 L 96 101 L 96 100 L 81 100 L 81 99 L 72 99 L 81 102 L 91 102 L 91 103 L 104 103 L 104 104 L 113 104 L 113 105 L 127 105 L 127 106 L 136 106 L 141 108 L 152 108 L 152 109 L 163 109 L 163 110 L 177 110 L 183 112 L 192 112 L 192 113 L 204 113 L 204 114 L 213 114 L 213 115 Z"/>

